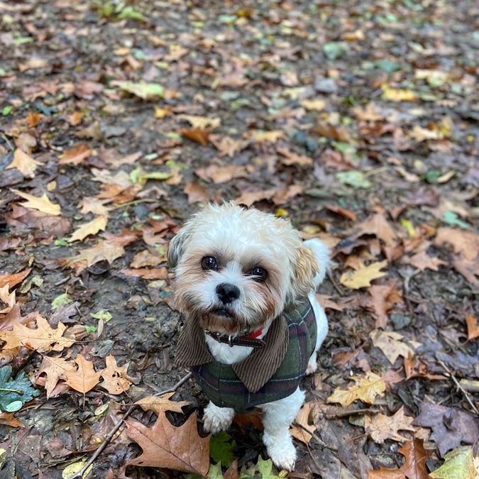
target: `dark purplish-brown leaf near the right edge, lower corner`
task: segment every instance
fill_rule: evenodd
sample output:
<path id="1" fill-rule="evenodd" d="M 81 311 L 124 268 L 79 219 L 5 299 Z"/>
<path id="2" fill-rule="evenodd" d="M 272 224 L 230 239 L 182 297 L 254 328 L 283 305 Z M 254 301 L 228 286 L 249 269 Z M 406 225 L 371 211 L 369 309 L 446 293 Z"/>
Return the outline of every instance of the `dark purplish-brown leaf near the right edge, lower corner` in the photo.
<path id="1" fill-rule="evenodd" d="M 437 444 L 441 456 L 461 444 L 475 444 L 478 440 L 479 419 L 463 409 L 423 402 L 419 412 L 414 425 L 432 429 L 429 439 Z"/>

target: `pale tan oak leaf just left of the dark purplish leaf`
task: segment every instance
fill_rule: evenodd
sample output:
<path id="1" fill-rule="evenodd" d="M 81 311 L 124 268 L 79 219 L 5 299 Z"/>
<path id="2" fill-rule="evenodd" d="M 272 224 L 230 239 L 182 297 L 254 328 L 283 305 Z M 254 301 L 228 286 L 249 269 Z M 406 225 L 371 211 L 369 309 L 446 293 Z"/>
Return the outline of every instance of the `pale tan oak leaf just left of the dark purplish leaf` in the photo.
<path id="1" fill-rule="evenodd" d="M 365 416 L 364 429 L 371 439 L 379 444 L 384 443 L 386 439 L 407 441 L 407 438 L 402 437 L 398 431 L 416 431 L 416 428 L 412 426 L 413 421 L 414 417 L 404 414 L 403 406 L 392 416 L 385 414 L 374 414 L 373 417 Z"/>

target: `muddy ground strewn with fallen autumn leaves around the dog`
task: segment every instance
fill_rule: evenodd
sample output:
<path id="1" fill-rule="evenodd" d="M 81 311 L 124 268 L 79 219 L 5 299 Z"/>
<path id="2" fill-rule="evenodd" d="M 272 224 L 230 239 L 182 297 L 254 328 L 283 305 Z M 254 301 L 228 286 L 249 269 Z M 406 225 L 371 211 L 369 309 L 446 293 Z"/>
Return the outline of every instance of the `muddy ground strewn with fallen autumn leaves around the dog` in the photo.
<path id="1" fill-rule="evenodd" d="M 71 477 L 125 404 L 185 375 L 167 243 L 204 204 L 229 200 L 331 247 L 319 290 L 330 331 L 297 418 L 314 436 L 296 426 L 290 477 L 399 477 L 384 468 L 416 461 L 404 475 L 424 478 L 461 445 L 474 477 L 475 1 L 17 0 L 0 11 L 0 360 L 12 368 L 0 391 L 18 390 L 5 384 L 21 371 L 37 390 L 0 394 L 0 477 Z M 65 324 L 64 339 L 29 338 L 37 313 Z M 110 356 L 127 366 L 111 374 L 123 389 L 106 373 L 98 384 Z M 56 375 L 49 358 L 66 361 Z M 191 379 L 172 399 L 188 402 L 167 413 L 178 428 L 206 404 Z M 145 409 L 130 420 L 165 416 Z M 257 426 L 243 418 L 226 436 L 239 468 L 267 459 Z M 141 448 L 120 431 L 89 477 L 182 474 L 127 466 Z"/>

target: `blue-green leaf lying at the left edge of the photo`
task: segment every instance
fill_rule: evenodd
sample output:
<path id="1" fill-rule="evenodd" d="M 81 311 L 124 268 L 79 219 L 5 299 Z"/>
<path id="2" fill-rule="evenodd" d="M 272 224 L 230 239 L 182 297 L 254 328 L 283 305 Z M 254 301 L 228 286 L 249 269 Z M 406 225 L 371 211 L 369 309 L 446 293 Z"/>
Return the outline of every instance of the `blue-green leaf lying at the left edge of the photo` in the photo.
<path id="1" fill-rule="evenodd" d="M 18 411 L 23 404 L 40 395 L 23 371 L 11 378 L 11 366 L 0 368 L 0 411 Z"/>

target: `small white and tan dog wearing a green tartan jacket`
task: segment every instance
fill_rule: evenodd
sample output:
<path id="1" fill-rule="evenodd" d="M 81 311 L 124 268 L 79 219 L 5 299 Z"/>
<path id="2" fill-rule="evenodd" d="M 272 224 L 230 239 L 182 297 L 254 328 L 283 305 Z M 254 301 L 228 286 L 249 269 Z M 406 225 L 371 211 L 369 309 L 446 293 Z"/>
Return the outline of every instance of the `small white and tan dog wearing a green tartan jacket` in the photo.
<path id="1" fill-rule="evenodd" d="M 316 370 L 328 330 L 314 297 L 328 248 L 303 242 L 289 221 L 229 203 L 192 216 L 168 260 L 185 316 L 176 361 L 209 397 L 204 429 L 224 431 L 235 411 L 258 407 L 270 458 L 292 470 L 289 429 L 304 402 L 299 381 Z"/>

